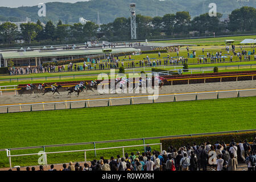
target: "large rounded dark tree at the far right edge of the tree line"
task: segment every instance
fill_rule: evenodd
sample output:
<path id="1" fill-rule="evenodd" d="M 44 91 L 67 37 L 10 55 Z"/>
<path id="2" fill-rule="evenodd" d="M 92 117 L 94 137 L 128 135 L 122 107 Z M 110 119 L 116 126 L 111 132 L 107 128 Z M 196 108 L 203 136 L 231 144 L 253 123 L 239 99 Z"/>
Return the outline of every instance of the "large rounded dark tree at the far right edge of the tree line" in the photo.
<path id="1" fill-rule="evenodd" d="M 229 15 L 229 30 L 250 31 L 256 28 L 256 9 L 244 6 Z"/>

